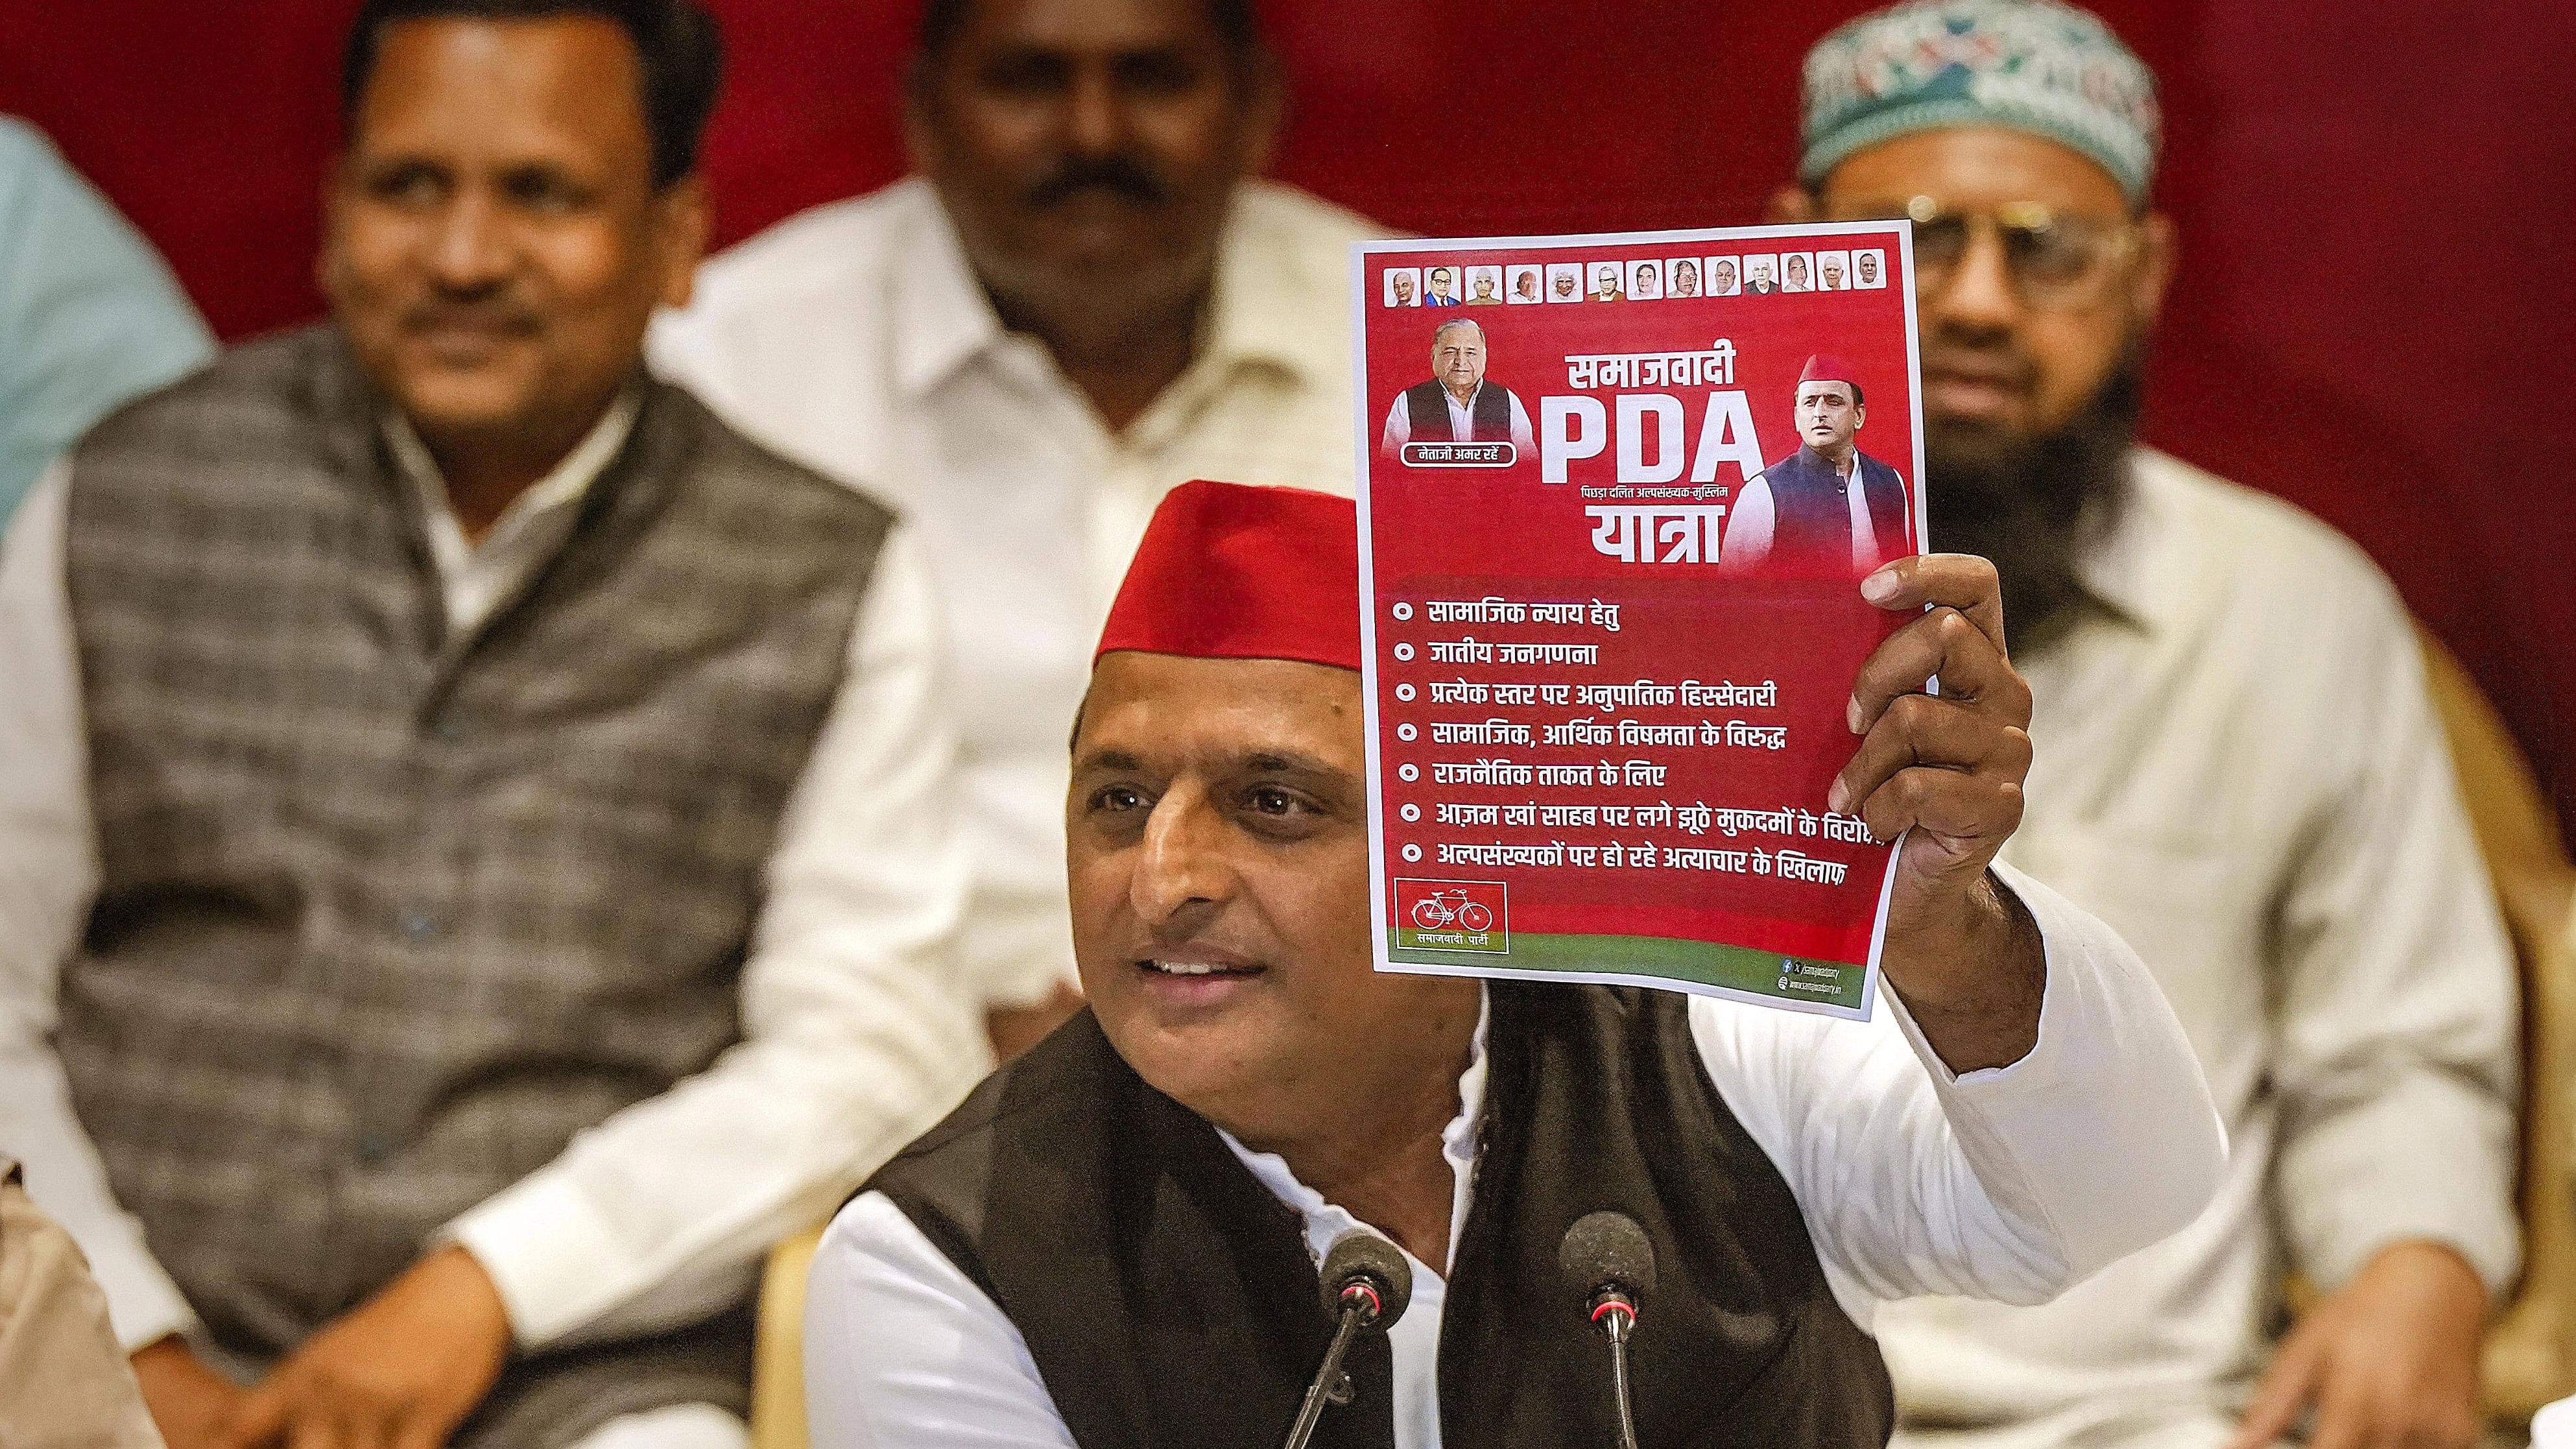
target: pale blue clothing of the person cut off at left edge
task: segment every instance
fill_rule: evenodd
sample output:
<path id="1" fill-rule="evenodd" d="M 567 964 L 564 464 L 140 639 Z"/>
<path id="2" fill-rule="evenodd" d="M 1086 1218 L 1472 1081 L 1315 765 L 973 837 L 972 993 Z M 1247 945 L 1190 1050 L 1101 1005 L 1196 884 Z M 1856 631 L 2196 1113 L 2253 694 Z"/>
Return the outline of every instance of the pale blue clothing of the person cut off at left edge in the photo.
<path id="1" fill-rule="evenodd" d="M 196 369 L 188 294 L 44 131 L 0 116 L 0 529 L 36 474 L 118 402 Z"/>

